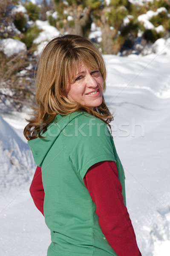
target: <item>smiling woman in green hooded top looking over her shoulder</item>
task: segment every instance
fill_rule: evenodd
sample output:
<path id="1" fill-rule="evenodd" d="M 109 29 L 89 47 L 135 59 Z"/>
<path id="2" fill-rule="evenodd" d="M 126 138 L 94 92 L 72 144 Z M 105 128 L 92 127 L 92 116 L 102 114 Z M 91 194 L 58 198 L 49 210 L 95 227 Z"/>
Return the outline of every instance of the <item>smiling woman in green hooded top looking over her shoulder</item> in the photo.
<path id="1" fill-rule="evenodd" d="M 105 80 L 101 53 L 80 36 L 52 39 L 38 63 L 38 108 L 24 135 L 38 166 L 30 192 L 51 230 L 48 256 L 141 256 Z"/>

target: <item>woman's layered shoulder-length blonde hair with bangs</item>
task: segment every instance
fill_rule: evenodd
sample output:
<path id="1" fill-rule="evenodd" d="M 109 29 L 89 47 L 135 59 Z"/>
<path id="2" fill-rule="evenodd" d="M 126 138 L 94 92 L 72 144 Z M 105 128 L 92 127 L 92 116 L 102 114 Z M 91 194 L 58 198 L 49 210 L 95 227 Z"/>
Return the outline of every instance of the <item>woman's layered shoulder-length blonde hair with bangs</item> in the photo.
<path id="1" fill-rule="evenodd" d="M 95 45 L 78 35 L 53 38 L 44 48 L 38 63 L 36 85 L 37 108 L 33 119 L 24 129 L 27 140 L 42 137 L 49 123 L 57 114 L 66 115 L 76 110 L 91 113 L 107 125 L 113 120 L 104 97 L 100 106 L 93 110 L 64 96 L 68 81 L 72 81 L 78 65 L 83 63 L 89 70 L 99 69 L 106 89 L 106 67 L 104 59 Z M 109 125 L 110 127 L 110 125 Z M 41 135 L 40 135 L 41 134 Z"/>

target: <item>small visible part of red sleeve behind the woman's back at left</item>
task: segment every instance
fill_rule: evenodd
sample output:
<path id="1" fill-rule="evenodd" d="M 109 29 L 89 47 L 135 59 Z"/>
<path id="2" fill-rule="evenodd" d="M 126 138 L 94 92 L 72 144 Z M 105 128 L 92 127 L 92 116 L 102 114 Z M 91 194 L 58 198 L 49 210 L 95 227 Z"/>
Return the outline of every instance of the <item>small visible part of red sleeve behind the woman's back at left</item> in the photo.
<path id="1" fill-rule="evenodd" d="M 43 203 L 45 194 L 43 189 L 41 168 L 39 166 L 37 166 L 37 169 L 35 170 L 35 175 L 33 177 L 29 191 L 35 203 L 35 206 L 43 214 Z"/>

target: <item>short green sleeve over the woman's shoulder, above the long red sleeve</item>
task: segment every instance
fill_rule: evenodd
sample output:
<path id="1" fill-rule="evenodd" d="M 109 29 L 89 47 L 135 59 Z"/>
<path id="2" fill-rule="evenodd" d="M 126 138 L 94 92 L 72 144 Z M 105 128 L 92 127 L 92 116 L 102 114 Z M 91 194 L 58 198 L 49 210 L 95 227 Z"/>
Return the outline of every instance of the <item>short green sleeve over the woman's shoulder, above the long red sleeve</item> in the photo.
<path id="1" fill-rule="evenodd" d="M 109 129 L 100 119 L 82 114 L 63 131 L 67 156 L 84 178 L 87 170 L 101 161 L 115 161 Z"/>

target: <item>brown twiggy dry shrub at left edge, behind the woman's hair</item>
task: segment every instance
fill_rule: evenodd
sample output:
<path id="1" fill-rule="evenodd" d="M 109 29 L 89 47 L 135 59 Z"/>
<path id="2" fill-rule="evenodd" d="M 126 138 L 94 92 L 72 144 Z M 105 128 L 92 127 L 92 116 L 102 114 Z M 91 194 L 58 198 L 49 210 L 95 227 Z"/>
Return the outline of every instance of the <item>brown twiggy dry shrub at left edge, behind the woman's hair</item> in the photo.
<path id="1" fill-rule="evenodd" d="M 7 58 L 0 52 L 0 100 L 8 108 L 20 111 L 35 98 L 34 72 L 36 60 L 20 52 Z"/>

